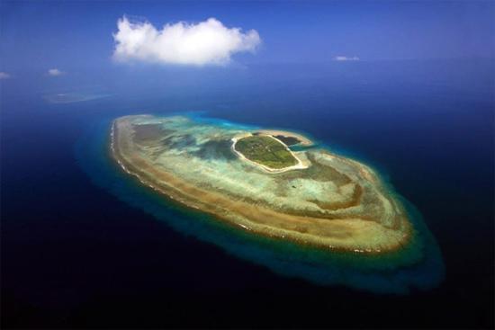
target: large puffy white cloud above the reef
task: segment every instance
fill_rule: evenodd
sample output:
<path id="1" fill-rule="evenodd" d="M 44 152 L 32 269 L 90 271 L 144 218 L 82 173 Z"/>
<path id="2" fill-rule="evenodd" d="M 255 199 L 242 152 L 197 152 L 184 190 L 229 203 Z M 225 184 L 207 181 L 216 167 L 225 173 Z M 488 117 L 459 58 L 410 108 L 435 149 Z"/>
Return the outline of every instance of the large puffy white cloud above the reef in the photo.
<path id="1" fill-rule="evenodd" d="M 150 22 L 129 22 L 124 16 L 117 27 L 113 58 L 118 61 L 224 65 L 235 53 L 254 52 L 261 42 L 257 31 L 229 29 L 214 18 L 195 24 L 167 23 L 157 30 Z"/>

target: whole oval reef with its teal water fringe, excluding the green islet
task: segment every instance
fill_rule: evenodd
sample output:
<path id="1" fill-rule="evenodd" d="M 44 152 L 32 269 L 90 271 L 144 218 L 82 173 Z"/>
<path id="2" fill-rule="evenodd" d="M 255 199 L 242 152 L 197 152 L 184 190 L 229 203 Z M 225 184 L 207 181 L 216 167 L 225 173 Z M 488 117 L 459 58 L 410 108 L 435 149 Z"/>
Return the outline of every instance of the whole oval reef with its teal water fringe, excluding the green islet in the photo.
<path id="1" fill-rule="evenodd" d="M 79 141 L 79 164 L 94 183 L 178 232 L 321 285 L 406 293 L 443 278 L 435 239 L 410 202 L 374 169 L 301 135 L 288 147 L 306 167 L 274 173 L 232 148 L 233 138 L 259 128 L 141 115 L 113 120 L 107 139 L 106 125 Z"/>

